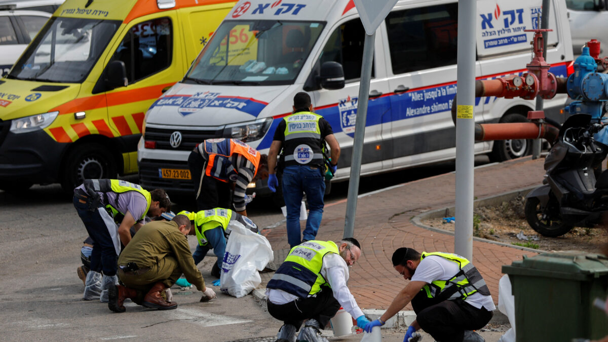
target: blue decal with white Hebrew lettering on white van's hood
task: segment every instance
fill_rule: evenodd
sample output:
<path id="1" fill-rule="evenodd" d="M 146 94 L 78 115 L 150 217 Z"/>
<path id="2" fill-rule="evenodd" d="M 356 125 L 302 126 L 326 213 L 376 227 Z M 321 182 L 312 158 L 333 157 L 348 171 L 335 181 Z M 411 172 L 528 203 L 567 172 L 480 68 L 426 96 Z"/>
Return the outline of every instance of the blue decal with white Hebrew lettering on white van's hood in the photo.
<path id="1" fill-rule="evenodd" d="M 182 116 L 195 113 L 206 107 L 229 108 L 257 117 L 268 103 L 244 97 L 219 96 L 219 92 L 197 92 L 193 96 L 165 96 L 156 100 L 156 106 L 177 106 Z"/>

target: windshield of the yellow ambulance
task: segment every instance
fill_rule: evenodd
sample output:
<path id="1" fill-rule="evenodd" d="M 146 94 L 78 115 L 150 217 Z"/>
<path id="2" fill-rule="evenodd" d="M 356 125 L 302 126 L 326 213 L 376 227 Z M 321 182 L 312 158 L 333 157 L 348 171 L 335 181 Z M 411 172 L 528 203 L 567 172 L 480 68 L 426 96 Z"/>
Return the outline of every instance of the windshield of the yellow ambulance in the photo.
<path id="1" fill-rule="evenodd" d="M 53 17 L 27 47 L 9 79 L 81 83 L 120 21 Z"/>

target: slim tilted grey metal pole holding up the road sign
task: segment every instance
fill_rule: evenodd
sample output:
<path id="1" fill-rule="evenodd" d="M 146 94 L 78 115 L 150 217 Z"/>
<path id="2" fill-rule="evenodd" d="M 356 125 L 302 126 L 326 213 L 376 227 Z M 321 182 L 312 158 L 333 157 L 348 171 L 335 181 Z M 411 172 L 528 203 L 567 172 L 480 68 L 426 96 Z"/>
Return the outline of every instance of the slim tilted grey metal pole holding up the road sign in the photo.
<path id="1" fill-rule="evenodd" d="M 350 165 L 348 181 L 348 199 L 346 216 L 344 218 L 344 237 L 353 237 L 354 216 L 357 211 L 357 195 L 359 194 L 359 173 L 363 153 L 363 138 L 365 135 L 365 120 L 367 119 L 367 100 L 370 96 L 371 62 L 374 56 L 374 40 L 376 32 L 365 35 L 363 46 L 363 61 L 361 65 L 361 83 L 359 85 L 359 100 L 357 103 L 357 120 L 354 124 L 353 157 Z"/>

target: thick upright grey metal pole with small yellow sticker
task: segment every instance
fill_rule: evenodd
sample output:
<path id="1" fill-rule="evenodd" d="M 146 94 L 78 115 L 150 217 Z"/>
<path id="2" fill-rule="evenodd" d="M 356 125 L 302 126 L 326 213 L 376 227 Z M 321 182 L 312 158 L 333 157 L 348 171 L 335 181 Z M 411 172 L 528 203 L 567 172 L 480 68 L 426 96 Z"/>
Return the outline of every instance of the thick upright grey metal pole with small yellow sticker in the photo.
<path id="1" fill-rule="evenodd" d="M 454 252 L 473 257 L 476 0 L 458 1 L 458 98 L 456 116 L 456 224 Z"/>

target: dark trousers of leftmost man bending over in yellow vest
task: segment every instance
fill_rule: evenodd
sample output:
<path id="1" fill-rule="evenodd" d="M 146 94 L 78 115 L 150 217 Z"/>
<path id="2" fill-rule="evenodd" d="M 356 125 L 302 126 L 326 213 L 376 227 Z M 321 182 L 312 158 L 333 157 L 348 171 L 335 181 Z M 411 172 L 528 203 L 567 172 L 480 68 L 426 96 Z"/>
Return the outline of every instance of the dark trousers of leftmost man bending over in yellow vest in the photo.
<path id="1" fill-rule="evenodd" d="M 110 224 L 108 219 L 111 220 L 111 217 L 102 204 L 99 204 L 99 208 L 91 208 L 88 199 L 77 194 L 74 195 L 74 208 L 94 241 L 90 257 L 91 270 L 99 273 L 103 271 L 106 276 L 116 275 L 118 268 L 116 249 L 108 232 L 108 229 L 116 229 L 116 225 L 108 226 Z M 107 215 L 106 220 L 102 218 L 102 215 Z M 114 224 L 113 221 L 111 223 Z"/>

